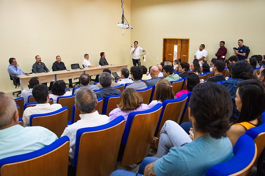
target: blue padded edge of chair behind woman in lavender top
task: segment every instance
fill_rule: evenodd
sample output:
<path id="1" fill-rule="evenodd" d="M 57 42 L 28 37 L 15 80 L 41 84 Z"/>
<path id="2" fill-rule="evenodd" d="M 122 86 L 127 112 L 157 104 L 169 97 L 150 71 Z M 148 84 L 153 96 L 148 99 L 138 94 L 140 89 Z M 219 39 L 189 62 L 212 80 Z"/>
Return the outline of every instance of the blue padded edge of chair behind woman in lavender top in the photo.
<path id="1" fill-rule="evenodd" d="M 161 106 L 162 106 L 162 104 L 158 103 L 154 107 L 152 107 L 151 109 L 148 109 L 148 110 L 130 112 L 129 115 L 128 115 L 128 118 L 127 118 L 127 122 L 126 122 L 126 125 L 125 125 L 125 129 L 124 129 L 124 132 L 123 132 L 121 143 L 126 146 L 126 143 L 127 143 L 127 140 L 128 140 L 128 136 L 129 136 L 129 132 L 130 132 L 131 124 L 133 124 L 134 118 L 135 118 L 135 116 L 137 114 L 150 113 L 150 112 L 156 111 Z"/>

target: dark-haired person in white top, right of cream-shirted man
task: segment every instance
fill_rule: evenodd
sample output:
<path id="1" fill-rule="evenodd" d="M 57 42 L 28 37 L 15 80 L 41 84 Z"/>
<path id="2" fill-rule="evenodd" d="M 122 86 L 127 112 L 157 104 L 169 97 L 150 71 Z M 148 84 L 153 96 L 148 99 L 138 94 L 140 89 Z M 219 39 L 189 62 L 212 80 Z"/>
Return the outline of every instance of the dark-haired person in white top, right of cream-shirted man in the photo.
<path id="1" fill-rule="evenodd" d="M 51 87 L 51 95 L 49 95 L 50 98 L 54 100 L 54 104 L 57 103 L 57 98 L 58 97 L 65 97 L 65 96 L 70 96 L 72 93 L 70 91 L 65 91 L 66 89 L 66 84 L 63 80 L 56 81 L 54 85 Z"/>

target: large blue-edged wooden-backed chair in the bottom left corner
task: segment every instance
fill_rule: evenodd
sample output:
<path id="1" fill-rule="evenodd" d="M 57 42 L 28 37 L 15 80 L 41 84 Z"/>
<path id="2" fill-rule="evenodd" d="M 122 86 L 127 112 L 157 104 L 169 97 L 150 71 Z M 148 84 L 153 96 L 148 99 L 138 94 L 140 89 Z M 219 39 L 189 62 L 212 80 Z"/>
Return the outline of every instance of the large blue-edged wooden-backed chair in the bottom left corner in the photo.
<path id="1" fill-rule="evenodd" d="M 1 175 L 67 175 L 69 137 L 63 136 L 35 152 L 0 160 Z"/>

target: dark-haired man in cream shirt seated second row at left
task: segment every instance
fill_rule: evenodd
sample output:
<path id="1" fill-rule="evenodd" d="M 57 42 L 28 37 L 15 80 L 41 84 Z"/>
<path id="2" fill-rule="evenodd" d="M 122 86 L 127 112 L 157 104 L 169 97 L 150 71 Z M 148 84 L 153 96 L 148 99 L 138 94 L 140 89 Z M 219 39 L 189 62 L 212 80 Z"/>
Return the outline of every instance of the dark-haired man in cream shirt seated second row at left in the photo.
<path id="1" fill-rule="evenodd" d="M 30 126 L 30 117 L 33 114 L 42 114 L 56 111 L 62 108 L 60 104 L 52 104 L 49 102 L 49 91 L 48 87 L 44 84 L 35 85 L 32 90 L 32 95 L 36 102 L 36 106 L 28 107 L 24 110 L 23 113 L 23 125 L 24 127 Z M 21 107 L 20 107 L 21 108 Z"/>

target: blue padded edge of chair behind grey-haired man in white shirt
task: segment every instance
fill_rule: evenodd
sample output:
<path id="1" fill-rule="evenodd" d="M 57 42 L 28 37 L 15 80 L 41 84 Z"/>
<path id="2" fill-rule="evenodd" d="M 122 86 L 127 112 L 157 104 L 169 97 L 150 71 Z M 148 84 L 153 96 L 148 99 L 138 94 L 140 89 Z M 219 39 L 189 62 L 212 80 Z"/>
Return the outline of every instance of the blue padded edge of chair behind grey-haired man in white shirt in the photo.
<path id="1" fill-rule="evenodd" d="M 80 139 L 83 133 L 91 132 L 91 131 L 100 131 L 103 129 L 111 128 L 124 120 L 123 116 L 118 116 L 113 121 L 109 122 L 108 124 L 100 125 L 97 127 L 89 127 L 89 128 L 82 128 L 77 130 L 76 137 L 75 137 L 75 150 L 74 150 L 74 157 L 73 157 L 73 166 L 77 167 L 77 159 L 78 159 L 78 151 L 80 145 Z"/>

